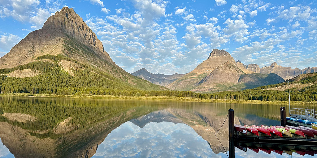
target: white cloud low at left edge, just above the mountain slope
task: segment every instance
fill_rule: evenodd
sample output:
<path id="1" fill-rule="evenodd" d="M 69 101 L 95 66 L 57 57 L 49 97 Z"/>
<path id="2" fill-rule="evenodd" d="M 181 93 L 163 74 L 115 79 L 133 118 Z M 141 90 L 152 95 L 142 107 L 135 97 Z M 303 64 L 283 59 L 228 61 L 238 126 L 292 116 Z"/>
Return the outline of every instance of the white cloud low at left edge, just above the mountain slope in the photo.
<path id="1" fill-rule="evenodd" d="M 10 49 L 15 46 L 20 40 L 22 39 L 17 35 L 4 33 L 0 36 L 0 49 L 9 52 Z"/>

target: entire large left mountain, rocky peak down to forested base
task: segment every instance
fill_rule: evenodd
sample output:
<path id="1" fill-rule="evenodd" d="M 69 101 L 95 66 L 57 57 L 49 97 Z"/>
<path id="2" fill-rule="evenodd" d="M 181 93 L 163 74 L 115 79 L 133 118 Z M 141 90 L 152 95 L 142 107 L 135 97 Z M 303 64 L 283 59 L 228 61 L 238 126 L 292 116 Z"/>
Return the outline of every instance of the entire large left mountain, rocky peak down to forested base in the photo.
<path id="1" fill-rule="evenodd" d="M 0 68 L 4 74 L 1 93 L 113 94 L 110 91 L 115 89 L 167 89 L 116 65 L 96 34 L 67 7 L 0 58 Z"/>

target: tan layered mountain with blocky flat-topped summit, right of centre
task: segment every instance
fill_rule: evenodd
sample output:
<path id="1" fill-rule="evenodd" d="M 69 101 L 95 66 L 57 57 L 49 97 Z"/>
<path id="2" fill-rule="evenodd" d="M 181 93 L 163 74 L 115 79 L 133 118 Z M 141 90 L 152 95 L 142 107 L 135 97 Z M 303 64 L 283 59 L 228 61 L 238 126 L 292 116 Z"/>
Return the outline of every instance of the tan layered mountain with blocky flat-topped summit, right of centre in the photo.
<path id="1" fill-rule="evenodd" d="M 252 65 L 250 65 L 250 68 L 251 67 Z M 173 90 L 217 92 L 233 89 L 241 90 L 250 87 L 254 88 L 255 86 L 258 87 L 284 81 L 281 77 L 272 75 L 263 76 L 247 68 L 246 65 L 240 61 L 236 62 L 229 52 L 214 49 L 207 60 L 166 87 Z M 242 76 L 244 76 L 244 79 L 240 80 Z M 255 80 L 252 84 L 243 82 L 249 82 L 250 78 Z M 268 82 L 261 82 L 263 80 Z M 239 86 L 235 86 L 238 84 Z"/>

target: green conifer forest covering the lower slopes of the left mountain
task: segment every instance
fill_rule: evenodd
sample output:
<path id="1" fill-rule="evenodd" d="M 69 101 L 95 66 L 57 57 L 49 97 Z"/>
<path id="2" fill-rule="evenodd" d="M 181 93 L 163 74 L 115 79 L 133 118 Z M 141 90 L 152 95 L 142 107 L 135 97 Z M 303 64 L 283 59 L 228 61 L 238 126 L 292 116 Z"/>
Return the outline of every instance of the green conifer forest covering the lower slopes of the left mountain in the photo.
<path id="1" fill-rule="evenodd" d="M 115 91 L 160 90 L 166 89 L 136 77 L 140 82 L 128 84 L 120 78 L 113 77 L 97 69 L 80 64 L 75 60 L 61 55 L 44 55 L 38 61 L 9 69 L 0 69 L 1 93 L 41 93 L 41 94 L 110 94 Z M 43 59 L 49 59 L 43 61 Z M 62 70 L 58 61 L 66 60 L 77 63 L 82 69 L 71 71 L 75 76 Z M 7 77 L 15 70 L 39 70 L 40 75 L 34 77 Z M 142 80 L 142 81 L 141 81 Z"/>

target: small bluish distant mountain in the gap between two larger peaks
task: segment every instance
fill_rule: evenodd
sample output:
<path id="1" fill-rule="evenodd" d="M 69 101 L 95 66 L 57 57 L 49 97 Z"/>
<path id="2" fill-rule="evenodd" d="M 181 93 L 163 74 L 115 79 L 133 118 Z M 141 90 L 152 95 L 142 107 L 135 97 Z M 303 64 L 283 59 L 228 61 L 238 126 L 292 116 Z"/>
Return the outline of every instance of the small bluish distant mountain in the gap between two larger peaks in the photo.
<path id="1" fill-rule="evenodd" d="M 154 84 L 167 86 L 171 82 L 174 82 L 178 78 L 184 76 L 185 74 L 173 74 L 173 75 L 163 75 L 163 74 L 152 74 L 145 68 L 133 72 L 131 75 L 138 76 L 146 81 L 150 81 Z"/>

